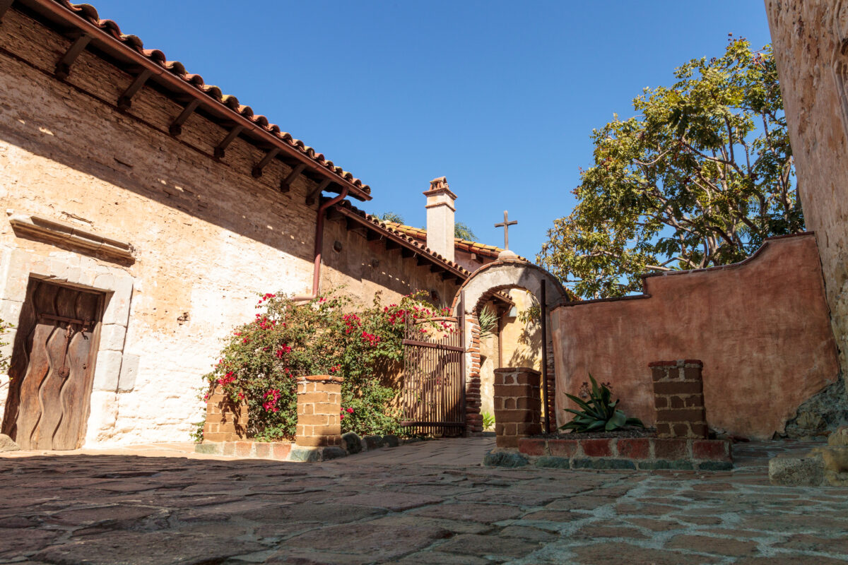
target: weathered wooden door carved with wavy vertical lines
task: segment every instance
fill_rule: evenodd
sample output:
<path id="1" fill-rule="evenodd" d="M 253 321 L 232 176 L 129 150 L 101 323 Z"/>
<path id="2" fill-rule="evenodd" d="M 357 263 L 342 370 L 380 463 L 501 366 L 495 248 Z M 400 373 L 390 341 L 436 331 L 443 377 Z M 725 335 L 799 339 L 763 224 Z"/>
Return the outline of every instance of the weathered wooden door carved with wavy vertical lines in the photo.
<path id="1" fill-rule="evenodd" d="M 3 433 L 22 449 L 81 446 L 102 307 L 102 294 L 30 280 L 3 417 Z"/>

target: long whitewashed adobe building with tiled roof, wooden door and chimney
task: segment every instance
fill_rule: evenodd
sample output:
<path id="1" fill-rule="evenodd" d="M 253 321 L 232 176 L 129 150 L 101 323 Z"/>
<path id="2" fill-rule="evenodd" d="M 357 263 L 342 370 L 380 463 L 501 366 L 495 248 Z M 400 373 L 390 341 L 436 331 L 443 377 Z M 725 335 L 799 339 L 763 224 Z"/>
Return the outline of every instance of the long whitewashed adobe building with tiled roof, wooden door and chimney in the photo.
<path id="1" fill-rule="evenodd" d="M 444 178 L 427 192 L 452 241 L 453 193 Z M 0 1 L 3 433 L 37 449 L 187 440 L 201 376 L 261 293 L 449 304 L 469 275 L 453 247 L 349 202 L 370 199 L 91 6 Z"/>

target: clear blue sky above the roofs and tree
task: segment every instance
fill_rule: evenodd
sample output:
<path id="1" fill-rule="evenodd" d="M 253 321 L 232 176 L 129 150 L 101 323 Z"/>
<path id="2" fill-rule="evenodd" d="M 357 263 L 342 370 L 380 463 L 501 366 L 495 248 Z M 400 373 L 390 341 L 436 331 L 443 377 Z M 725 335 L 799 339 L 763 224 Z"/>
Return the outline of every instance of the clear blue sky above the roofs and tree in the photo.
<path id="1" fill-rule="evenodd" d="M 572 209 L 592 128 L 728 33 L 770 42 L 762 0 L 92 3 L 371 185 L 360 208 L 423 226 L 444 175 L 457 220 L 502 245 L 508 209 L 527 258 Z"/>

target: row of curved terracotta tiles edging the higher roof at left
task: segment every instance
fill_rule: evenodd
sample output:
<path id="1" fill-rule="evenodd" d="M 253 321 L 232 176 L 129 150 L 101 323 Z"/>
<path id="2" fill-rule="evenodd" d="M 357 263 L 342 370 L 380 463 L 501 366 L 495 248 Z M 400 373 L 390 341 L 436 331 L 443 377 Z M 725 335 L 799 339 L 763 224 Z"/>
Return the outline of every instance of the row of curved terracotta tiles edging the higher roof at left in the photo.
<path id="1" fill-rule="evenodd" d="M 233 112 L 237 114 L 241 114 L 244 118 L 251 120 L 254 124 L 259 125 L 264 130 L 267 130 L 271 134 L 275 135 L 282 141 L 286 141 L 288 145 L 294 147 L 299 152 L 304 153 L 315 163 L 318 163 L 322 167 L 331 170 L 333 173 L 338 174 L 338 176 L 342 177 L 344 180 L 348 180 L 351 184 L 359 188 L 361 191 L 364 191 L 366 194 L 371 194 L 371 187 L 365 185 L 361 180 L 354 177 L 353 174 L 349 173 L 346 170 L 343 170 L 341 167 L 337 167 L 332 161 L 325 158 L 323 154 L 319 152 L 315 152 L 315 149 L 307 146 L 303 141 L 295 139 L 291 134 L 288 134 L 282 130 L 280 130 L 280 126 L 271 124 L 265 116 L 262 114 L 254 114 L 253 108 L 249 106 L 245 106 L 241 104 L 237 97 L 232 95 L 224 94 L 220 91 L 220 88 L 214 85 L 207 85 L 204 82 L 204 78 L 201 75 L 189 73 L 185 66 L 181 64 L 179 61 L 169 61 L 165 57 L 165 53 L 159 51 L 159 49 L 145 49 L 142 43 L 142 40 L 138 38 L 138 36 L 127 35 L 121 32 L 120 27 L 111 19 L 100 19 L 98 11 L 91 4 L 73 4 L 68 2 L 68 0 L 53 0 L 53 2 L 59 4 L 63 8 L 69 10 L 71 13 L 80 16 L 82 19 L 85 19 L 92 25 L 97 26 L 103 32 L 113 36 L 118 41 L 122 42 L 126 47 L 131 48 L 133 51 L 142 54 L 144 57 L 148 58 L 155 64 L 158 64 L 161 68 L 167 70 L 173 75 L 176 75 L 178 78 L 185 80 L 188 84 L 194 86 L 199 91 L 204 92 L 207 96 L 212 98 L 217 102 L 221 102 L 226 105 L 226 107 L 232 109 Z"/>

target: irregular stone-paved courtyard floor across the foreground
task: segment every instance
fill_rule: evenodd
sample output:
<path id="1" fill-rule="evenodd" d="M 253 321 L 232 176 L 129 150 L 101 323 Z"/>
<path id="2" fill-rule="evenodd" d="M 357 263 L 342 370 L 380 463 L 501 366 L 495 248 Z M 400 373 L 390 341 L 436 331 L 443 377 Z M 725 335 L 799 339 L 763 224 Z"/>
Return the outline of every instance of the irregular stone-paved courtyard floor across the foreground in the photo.
<path id="1" fill-rule="evenodd" d="M 180 444 L 19 452 L 0 457 L 0 562 L 848 562 L 848 489 L 768 484 L 769 455 L 810 444 L 738 445 L 734 472 L 646 474 L 480 467 L 492 442 L 316 464 Z"/>

